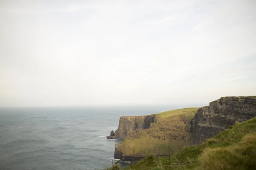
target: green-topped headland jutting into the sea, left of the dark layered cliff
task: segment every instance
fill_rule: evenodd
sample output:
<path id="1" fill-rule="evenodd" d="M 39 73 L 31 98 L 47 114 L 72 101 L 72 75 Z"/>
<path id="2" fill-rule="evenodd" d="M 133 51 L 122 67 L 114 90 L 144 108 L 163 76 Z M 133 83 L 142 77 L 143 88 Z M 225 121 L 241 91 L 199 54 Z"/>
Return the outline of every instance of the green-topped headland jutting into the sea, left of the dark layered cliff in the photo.
<path id="1" fill-rule="evenodd" d="M 125 140 L 116 144 L 114 158 L 135 161 L 147 155 L 168 155 L 168 145 L 171 153 L 176 152 L 188 142 L 190 122 L 197 110 L 184 108 L 148 116 L 121 117 L 115 135 L 119 133 Z"/>

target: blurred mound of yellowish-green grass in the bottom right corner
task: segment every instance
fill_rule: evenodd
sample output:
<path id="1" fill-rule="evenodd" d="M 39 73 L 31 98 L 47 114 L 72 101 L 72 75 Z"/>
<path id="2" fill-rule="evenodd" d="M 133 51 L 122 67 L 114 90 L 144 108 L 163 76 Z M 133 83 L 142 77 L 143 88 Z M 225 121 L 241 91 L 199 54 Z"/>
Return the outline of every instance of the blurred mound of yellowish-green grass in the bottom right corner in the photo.
<path id="1" fill-rule="evenodd" d="M 248 134 L 229 147 L 207 148 L 199 159 L 198 170 L 256 169 L 256 135 Z"/>

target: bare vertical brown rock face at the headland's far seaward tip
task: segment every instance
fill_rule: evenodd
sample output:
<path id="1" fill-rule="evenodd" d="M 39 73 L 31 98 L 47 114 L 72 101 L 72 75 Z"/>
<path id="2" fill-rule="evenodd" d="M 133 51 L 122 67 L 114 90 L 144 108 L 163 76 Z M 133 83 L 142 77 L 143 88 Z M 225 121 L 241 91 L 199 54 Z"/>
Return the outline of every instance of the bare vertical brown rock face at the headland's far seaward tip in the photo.
<path id="1" fill-rule="evenodd" d="M 118 129 L 115 132 L 115 138 L 125 138 L 127 133 L 136 129 L 148 129 L 150 124 L 154 123 L 155 115 L 147 116 L 122 116 L 119 119 Z"/>

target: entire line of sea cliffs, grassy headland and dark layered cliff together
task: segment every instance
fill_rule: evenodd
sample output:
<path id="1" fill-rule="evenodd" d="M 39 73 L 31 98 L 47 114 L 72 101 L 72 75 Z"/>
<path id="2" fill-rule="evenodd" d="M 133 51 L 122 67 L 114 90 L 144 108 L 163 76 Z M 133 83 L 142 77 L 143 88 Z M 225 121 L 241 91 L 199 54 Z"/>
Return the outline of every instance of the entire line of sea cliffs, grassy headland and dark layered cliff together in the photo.
<path id="1" fill-rule="evenodd" d="M 256 117 L 256 96 L 221 97 L 202 108 L 184 108 L 148 116 L 123 116 L 115 135 L 115 159 L 139 160 L 175 153 L 184 144 L 200 144 L 235 122 Z"/>

